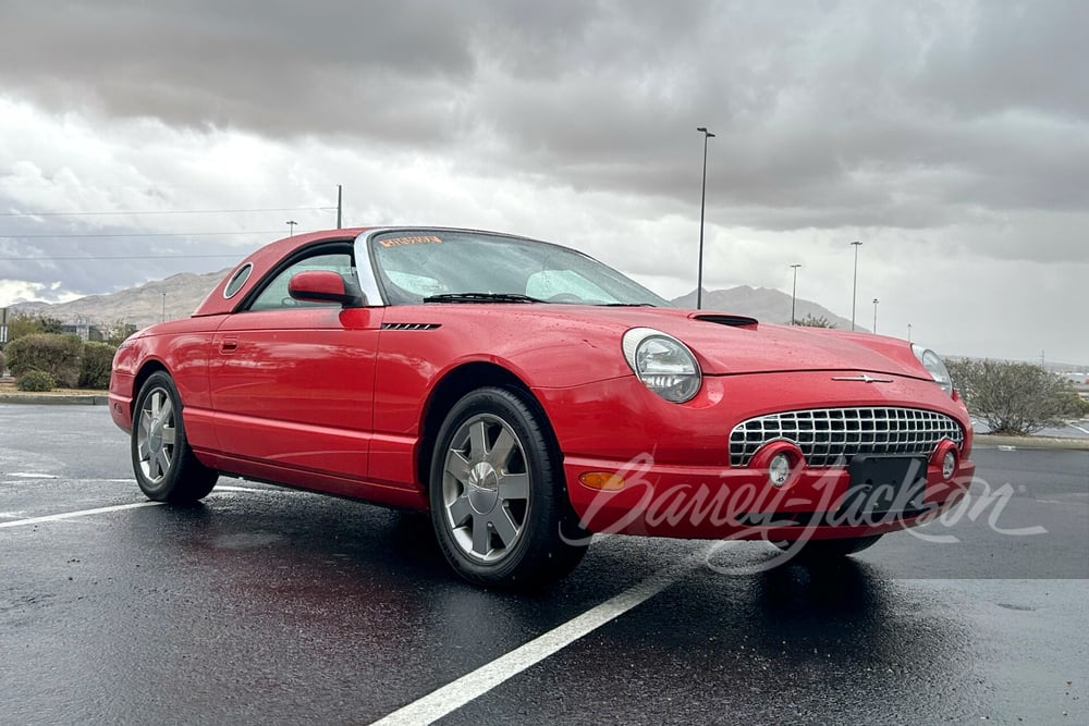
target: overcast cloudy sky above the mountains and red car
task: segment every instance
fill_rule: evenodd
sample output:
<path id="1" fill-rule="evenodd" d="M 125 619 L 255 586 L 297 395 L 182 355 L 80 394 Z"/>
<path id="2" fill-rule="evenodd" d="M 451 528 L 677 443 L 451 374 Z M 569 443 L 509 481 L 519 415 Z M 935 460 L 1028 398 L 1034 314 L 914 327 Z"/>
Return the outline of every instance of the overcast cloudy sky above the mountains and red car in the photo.
<path id="1" fill-rule="evenodd" d="M 0 306 L 442 224 L 1089 365 L 1089 2 L 0 0 Z"/>

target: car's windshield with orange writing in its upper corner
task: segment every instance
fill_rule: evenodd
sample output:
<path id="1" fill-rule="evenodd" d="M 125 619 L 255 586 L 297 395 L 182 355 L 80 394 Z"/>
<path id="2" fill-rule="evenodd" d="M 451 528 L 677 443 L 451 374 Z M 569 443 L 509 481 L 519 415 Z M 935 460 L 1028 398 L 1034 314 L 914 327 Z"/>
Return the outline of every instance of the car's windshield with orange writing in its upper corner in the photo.
<path id="1" fill-rule="evenodd" d="M 670 307 L 582 253 L 522 237 L 397 230 L 371 237 L 370 255 L 391 305 L 502 303 L 519 296 L 531 298 L 526 302 Z"/>

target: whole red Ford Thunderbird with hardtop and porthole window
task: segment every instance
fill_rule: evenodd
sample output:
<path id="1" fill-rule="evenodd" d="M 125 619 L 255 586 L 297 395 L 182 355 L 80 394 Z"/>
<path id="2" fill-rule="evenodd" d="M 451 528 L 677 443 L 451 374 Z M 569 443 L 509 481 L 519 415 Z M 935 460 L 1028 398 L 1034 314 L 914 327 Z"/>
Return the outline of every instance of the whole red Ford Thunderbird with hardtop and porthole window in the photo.
<path id="1" fill-rule="evenodd" d="M 259 249 L 125 341 L 110 411 L 152 500 L 222 473 L 429 512 L 491 586 L 562 577 L 592 532 L 848 554 L 975 470 L 932 350 L 676 309 L 578 251 L 467 230 Z"/>

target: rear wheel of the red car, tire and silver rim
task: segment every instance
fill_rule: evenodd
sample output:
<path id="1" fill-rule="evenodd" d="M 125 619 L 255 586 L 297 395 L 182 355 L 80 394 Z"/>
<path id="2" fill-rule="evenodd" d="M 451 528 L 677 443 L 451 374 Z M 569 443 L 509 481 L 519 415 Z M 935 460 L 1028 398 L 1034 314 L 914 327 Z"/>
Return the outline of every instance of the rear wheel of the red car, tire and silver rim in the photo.
<path id="1" fill-rule="evenodd" d="M 149 500 L 193 504 L 207 496 L 219 478 L 193 454 L 182 419 L 173 380 L 162 371 L 152 373 L 136 397 L 131 443 L 133 473 Z"/>

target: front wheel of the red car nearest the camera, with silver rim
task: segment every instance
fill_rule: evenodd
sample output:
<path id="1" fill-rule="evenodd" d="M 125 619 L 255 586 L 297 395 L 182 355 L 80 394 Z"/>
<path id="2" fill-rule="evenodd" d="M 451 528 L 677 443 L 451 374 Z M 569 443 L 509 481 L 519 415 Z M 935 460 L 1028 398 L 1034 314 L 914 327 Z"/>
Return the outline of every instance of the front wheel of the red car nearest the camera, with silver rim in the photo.
<path id="1" fill-rule="evenodd" d="M 561 457 L 537 406 L 484 387 L 446 415 L 431 455 L 431 522 L 454 570 L 476 585 L 527 589 L 567 575 L 588 534 L 567 500 Z"/>

